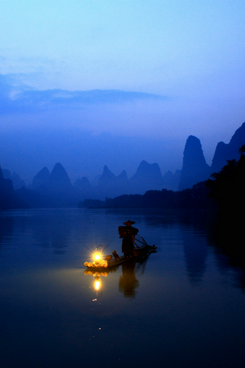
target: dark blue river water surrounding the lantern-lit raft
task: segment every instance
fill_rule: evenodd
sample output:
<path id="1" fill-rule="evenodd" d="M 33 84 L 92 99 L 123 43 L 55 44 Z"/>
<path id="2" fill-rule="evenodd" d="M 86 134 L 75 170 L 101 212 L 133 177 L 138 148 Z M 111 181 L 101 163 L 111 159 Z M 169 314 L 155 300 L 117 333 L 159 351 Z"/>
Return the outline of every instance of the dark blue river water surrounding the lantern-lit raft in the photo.
<path id="1" fill-rule="evenodd" d="M 210 217 L 211 215 L 209 215 Z M 215 244 L 205 212 L 0 213 L 1 368 L 245 366 L 244 270 Z M 100 276 L 131 219 L 157 253 Z"/>

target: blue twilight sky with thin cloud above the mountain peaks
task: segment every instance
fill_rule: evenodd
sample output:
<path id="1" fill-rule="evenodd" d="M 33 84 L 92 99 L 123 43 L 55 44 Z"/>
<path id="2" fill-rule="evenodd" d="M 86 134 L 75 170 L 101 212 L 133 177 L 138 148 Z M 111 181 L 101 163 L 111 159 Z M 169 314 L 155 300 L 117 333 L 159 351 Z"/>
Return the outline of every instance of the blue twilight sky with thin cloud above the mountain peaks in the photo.
<path id="1" fill-rule="evenodd" d="M 82 154 L 87 134 L 141 149 L 124 166 L 120 152 L 81 158 L 81 175 L 141 159 L 180 169 L 190 134 L 210 164 L 245 120 L 244 19 L 240 0 L 0 1 L 1 166 L 31 180 L 66 156 L 46 138 L 68 130 Z"/>

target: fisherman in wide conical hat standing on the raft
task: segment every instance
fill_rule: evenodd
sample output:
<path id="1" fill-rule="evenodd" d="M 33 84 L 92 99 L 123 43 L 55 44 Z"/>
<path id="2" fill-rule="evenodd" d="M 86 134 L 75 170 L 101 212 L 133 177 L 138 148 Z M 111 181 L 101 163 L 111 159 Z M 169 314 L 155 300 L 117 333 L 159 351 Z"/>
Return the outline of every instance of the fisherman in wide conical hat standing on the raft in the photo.
<path id="1" fill-rule="evenodd" d="M 118 232 L 120 238 L 123 238 L 122 244 L 122 252 L 124 253 L 125 257 L 133 257 L 135 248 L 134 248 L 134 237 L 138 234 L 138 229 L 133 228 L 131 225 L 135 224 L 134 221 L 126 221 L 123 222 L 123 225 L 126 226 L 119 226 Z"/>

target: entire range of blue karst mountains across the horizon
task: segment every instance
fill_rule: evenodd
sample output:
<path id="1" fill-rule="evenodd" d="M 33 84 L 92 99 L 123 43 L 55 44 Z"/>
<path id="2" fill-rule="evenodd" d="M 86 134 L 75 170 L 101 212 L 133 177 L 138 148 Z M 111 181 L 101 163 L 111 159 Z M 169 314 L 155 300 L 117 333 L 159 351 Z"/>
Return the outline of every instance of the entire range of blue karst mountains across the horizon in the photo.
<path id="1" fill-rule="evenodd" d="M 220 171 L 226 160 L 238 159 L 240 157 L 238 150 L 244 143 L 245 123 L 235 131 L 228 144 L 218 143 L 210 167 L 204 158 L 200 140 L 190 135 L 184 148 L 182 170 L 176 170 L 175 173 L 168 171 L 163 177 L 157 163 L 150 164 L 142 160 L 131 178 L 127 177 L 125 170 L 116 176 L 105 165 L 102 174 L 92 183 L 83 177 L 72 185 L 65 168 L 61 163 L 56 163 L 51 172 L 47 167 L 40 170 L 33 178 L 30 188 L 26 188 L 25 182 L 18 174 L 11 175 L 9 170 L 3 169 L 0 171 L 1 190 L 4 192 L 4 185 L 9 188 L 9 193 L 15 189 L 16 195 L 26 201 L 29 207 L 38 208 L 76 207 L 78 201 L 84 199 L 104 200 L 106 197 L 144 194 L 147 190 L 163 188 L 183 190 L 192 188 L 194 184 L 207 180 L 211 173 Z M 9 194 L 10 197 L 11 195 Z"/>

